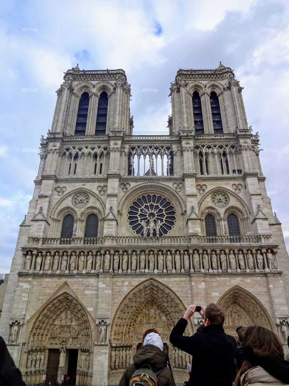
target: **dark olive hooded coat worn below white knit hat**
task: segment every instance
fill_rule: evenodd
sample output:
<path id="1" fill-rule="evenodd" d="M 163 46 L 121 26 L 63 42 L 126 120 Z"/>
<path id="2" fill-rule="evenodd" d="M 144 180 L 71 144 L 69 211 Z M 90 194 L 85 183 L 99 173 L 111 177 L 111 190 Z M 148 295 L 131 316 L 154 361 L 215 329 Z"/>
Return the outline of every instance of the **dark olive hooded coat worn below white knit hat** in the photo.
<path id="1" fill-rule="evenodd" d="M 165 353 L 152 344 L 142 346 L 134 354 L 133 363 L 126 367 L 118 386 L 129 386 L 134 371 L 140 369 L 144 364 L 150 365 L 153 371 L 163 369 L 157 377 L 158 386 L 176 386 L 173 373 L 166 367 Z"/>

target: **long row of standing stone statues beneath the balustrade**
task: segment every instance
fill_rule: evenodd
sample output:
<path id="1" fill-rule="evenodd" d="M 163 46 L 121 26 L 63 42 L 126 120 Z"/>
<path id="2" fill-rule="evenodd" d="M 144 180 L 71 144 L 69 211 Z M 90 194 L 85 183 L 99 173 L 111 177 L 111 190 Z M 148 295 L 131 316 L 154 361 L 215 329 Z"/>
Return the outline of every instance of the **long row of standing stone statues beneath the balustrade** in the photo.
<path id="1" fill-rule="evenodd" d="M 53 256 L 54 255 L 54 256 Z M 33 269 L 31 251 L 25 256 L 23 269 Z M 271 250 L 257 251 L 121 251 L 121 252 L 39 252 L 35 258 L 35 271 L 70 272 L 180 272 L 183 271 L 235 271 L 275 269 Z"/>

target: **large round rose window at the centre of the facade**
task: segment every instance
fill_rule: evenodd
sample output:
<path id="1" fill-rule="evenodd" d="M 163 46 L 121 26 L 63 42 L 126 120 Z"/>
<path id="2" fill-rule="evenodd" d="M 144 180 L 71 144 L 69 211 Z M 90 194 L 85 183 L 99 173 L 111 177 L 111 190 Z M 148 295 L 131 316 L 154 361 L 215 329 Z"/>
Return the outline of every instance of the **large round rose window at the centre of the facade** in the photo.
<path id="1" fill-rule="evenodd" d="M 141 196 L 130 206 L 128 223 L 140 236 L 163 236 L 176 222 L 176 211 L 165 197 L 156 194 Z"/>

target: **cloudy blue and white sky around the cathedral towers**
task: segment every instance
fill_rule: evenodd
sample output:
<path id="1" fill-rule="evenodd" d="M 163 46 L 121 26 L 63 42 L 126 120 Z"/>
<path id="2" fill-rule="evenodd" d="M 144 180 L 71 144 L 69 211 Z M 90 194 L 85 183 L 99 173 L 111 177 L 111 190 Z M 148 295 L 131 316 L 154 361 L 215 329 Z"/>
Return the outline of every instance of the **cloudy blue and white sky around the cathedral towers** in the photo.
<path id="1" fill-rule="evenodd" d="M 289 244 L 287 0 L 1 0 L 0 41 L 0 272 L 9 272 L 32 198 L 55 90 L 76 63 L 126 71 L 138 132 L 166 130 L 169 86 L 179 68 L 222 61 L 235 69 Z"/>

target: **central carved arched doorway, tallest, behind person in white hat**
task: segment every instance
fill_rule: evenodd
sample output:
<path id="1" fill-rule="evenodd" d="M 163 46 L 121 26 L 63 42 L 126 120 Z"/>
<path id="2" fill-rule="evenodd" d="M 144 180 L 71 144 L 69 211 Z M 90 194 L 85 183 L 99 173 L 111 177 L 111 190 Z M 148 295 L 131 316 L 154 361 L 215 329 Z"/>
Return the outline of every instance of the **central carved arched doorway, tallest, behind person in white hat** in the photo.
<path id="1" fill-rule="evenodd" d="M 158 330 L 168 348 L 175 380 L 185 381 L 187 363 L 191 358 L 169 342 L 171 329 L 185 310 L 176 293 L 158 280 L 148 279 L 131 289 L 119 304 L 111 325 L 109 384 L 119 382 L 125 367 L 133 362 L 133 354 L 139 348 L 143 333 L 149 328 Z M 190 322 L 185 334 L 191 335 L 192 331 Z"/>

